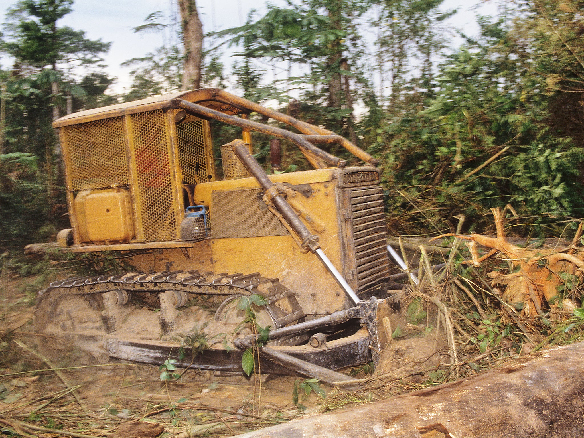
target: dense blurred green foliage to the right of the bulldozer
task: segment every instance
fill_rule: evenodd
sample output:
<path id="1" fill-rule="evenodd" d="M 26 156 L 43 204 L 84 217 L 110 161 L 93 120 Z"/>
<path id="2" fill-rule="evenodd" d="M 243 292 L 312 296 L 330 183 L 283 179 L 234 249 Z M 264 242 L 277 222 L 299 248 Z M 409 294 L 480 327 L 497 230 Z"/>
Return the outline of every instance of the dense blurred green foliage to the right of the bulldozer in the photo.
<path id="1" fill-rule="evenodd" d="M 561 231 L 560 216 L 582 217 L 582 110 L 569 95 L 584 91 L 574 79 L 584 75 L 575 54 L 582 40 L 571 33 L 580 24 L 545 27 L 544 12 L 555 11 L 556 22 L 561 8 L 524 5 L 479 17 L 479 37 L 439 65 L 432 95 L 412 89 L 375 128 L 369 151 L 383 163 L 396 234 L 454 231 L 460 213 L 484 230 L 488 208 L 506 204 L 534 217 L 541 235 Z M 544 35 L 557 44 L 543 46 Z M 560 71 L 558 57 L 570 67 Z M 566 89 L 550 89 L 550 77 Z"/>

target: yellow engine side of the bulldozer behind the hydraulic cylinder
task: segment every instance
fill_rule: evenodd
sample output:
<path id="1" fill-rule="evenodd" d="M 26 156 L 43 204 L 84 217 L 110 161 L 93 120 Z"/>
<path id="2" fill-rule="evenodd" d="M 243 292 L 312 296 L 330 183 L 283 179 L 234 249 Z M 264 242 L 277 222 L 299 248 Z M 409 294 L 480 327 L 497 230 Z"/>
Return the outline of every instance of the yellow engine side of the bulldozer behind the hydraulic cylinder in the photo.
<path id="1" fill-rule="evenodd" d="M 322 250 L 342 272 L 334 182 L 311 183 L 299 190 L 302 193 L 296 192 L 294 201 L 324 225 L 320 232 L 311 231 L 319 236 Z M 286 228 L 267 210 L 258 196 L 260 192 L 259 187 L 243 188 L 215 192 L 211 196 L 211 248 L 215 272 L 257 271 L 263 276 L 276 277 L 296 292 L 306 314 L 324 315 L 345 308 L 349 303 L 335 280 L 312 253 L 300 251 Z M 248 196 L 249 193 L 253 196 Z M 213 201 L 221 201 L 221 204 Z M 269 221 L 260 221 L 257 214 L 250 212 L 262 213 Z M 214 228 L 217 223 L 221 224 L 219 230 Z M 310 229 L 309 223 L 307 226 Z M 234 235 L 237 237 L 230 237 Z M 242 235 L 249 237 L 240 237 Z"/>

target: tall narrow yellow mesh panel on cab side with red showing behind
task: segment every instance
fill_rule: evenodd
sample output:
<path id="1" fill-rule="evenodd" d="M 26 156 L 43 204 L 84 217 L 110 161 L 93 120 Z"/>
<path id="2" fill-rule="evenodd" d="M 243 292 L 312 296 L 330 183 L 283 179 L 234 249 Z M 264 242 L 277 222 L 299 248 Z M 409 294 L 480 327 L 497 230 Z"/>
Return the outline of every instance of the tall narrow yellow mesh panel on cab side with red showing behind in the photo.
<path id="1" fill-rule="evenodd" d="M 144 238 L 176 239 L 171 155 L 162 110 L 132 114 L 138 201 Z"/>

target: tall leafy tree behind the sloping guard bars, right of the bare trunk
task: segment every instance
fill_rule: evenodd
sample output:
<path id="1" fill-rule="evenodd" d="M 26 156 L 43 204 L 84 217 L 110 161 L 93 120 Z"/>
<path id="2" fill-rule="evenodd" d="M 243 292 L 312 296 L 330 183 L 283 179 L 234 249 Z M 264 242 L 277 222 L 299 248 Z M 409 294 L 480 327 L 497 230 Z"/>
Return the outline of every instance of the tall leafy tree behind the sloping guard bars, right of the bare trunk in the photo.
<path id="1" fill-rule="evenodd" d="M 304 117 L 344 132 L 356 142 L 352 83 L 359 77 L 359 60 L 352 49 L 361 38 L 353 24 L 365 4 L 361 0 L 311 0 L 297 5 L 290 2 L 287 8 L 268 5 L 267 13 L 255 22 L 218 34 L 232 36 L 230 44 L 242 44 L 244 51 L 239 55 L 245 58 L 287 64 L 286 88 L 296 85 L 303 90 L 300 110 Z"/>

